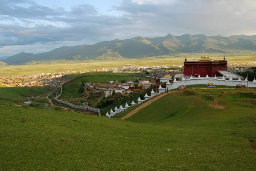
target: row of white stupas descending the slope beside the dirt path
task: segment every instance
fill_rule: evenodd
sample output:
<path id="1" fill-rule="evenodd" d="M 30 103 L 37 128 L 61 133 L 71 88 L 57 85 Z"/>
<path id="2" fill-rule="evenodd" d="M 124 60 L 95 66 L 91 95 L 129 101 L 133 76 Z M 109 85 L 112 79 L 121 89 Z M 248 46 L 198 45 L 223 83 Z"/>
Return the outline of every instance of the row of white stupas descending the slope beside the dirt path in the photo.
<path id="1" fill-rule="evenodd" d="M 161 87 L 161 88 L 162 88 L 162 87 Z M 151 91 L 151 96 L 148 96 L 148 94 L 146 93 L 145 96 L 144 96 L 144 98 L 145 98 L 145 100 L 148 100 L 148 99 L 151 99 L 152 97 L 156 96 L 157 94 L 159 94 L 159 93 L 155 93 L 155 92 L 152 90 L 152 91 Z M 142 102 L 145 101 L 145 100 L 141 100 L 140 97 L 139 97 L 139 98 L 138 98 L 138 103 L 134 103 L 134 101 L 132 101 L 132 102 L 131 102 L 131 106 L 135 106 L 135 105 L 137 105 L 137 104 L 140 104 L 140 103 L 142 103 Z M 110 110 L 110 113 L 107 112 L 107 113 L 106 113 L 106 116 L 108 116 L 108 117 L 110 118 L 110 117 L 116 115 L 117 113 L 120 113 L 120 112 L 122 112 L 122 111 L 128 109 L 128 108 L 131 107 L 131 106 L 129 106 L 127 103 L 125 104 L 125 107 L 122 107 L 122 105 L 120 105 L 119 108 L 115 107 L 114 110 L 111 109 L 111 110 Z"/>

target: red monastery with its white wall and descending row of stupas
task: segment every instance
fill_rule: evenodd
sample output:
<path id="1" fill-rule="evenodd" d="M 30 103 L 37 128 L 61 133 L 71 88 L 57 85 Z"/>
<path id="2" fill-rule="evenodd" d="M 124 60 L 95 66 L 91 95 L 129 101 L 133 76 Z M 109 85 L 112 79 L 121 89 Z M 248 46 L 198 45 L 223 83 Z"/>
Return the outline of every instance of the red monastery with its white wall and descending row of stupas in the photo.
<path id="1" fill-rule="evenodd" d="M 243 78 L 240 75 L 237 75 L 234 72 L 230 72 L 227 70 L 227 60 L 224 57 L 221 61 L 212 61 L 209 57 L 201 57 L 198 61 L 184 61 L 184 74 L 180 78 L 180 80 L 172 80 L 171 75 L 166 75 L 160 79 L 161 83 L 166 82 L 166 88 L 162 88 L 160 85 L 158 87 L 158 93 L 151 91 L 151 96 L 145 94 L 145 100 L 151 99 L 152 97 L 156 96 L 160 93 L 165 93 L 166 90 L 174 90 L 178 87 L 184 85 L 226 85 L 226 86 L 236 86 L 238 84 L 245 85 L 248 87 L 256 87 L 256 79 L 254 78 L 253 81 L 248 81 L 247 78 Z M 170 81 L 172 83 L 170 83 Z M 134 106 L 137 104 L 142 103 L 143 101 L 138 98 L 137 102 L 135 103 L 132 101 L 130 106 Z M 116 115 L 116 113 L 120 113 L 128 107 L 130 107 L 127 103 L 125 107 L 122 105 L 117 108 L 115 107 L 114 110 L 111 109 L 110 113 L 106 113 L 106 116 L 112 117 Z"/>

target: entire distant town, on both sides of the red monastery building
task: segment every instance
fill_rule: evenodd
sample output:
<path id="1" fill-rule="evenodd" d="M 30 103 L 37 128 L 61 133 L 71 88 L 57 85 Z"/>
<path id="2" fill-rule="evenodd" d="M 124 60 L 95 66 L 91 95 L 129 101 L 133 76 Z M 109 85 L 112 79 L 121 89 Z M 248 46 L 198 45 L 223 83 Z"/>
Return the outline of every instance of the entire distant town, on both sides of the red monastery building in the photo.
<path id="1" fill-rule="evenodd" d="M 252 71 L 252 67 L 256 67 L 256 62 L 247 62 L 241 64 L 228 64 L 228 69 L 232 72 L 246 72 Z M 10 77 L 0 77 L 0 84 L 7 87 L 60 87 L 65 81 L 62 78 L 64 75 L 73 73 L 85 73 L 90 71 L 105 71 L 112 73 L 136 73 L 140 76 L 152 76 L 160 79 L 166 74 L 180 78 L 183 75 L 183 66 L 129 66 L 122 68 L 102 68 L 98 70 L 79 70 L 79 71 L 67 71 L 67 72 L 54 72 L 54 73 L 38 73 L 34 75 L 18 75 Z M 181 74 L 181 75 L 179 75 Z"/>

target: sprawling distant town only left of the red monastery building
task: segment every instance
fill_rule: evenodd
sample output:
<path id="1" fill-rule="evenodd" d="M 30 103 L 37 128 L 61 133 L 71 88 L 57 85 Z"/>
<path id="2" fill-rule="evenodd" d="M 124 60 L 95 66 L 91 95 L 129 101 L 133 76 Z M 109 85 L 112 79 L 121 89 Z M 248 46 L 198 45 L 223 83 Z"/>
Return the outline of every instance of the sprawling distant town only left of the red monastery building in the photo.
<path id="1" fill-rule="evenodd" d="M 86 73 L 94 71 L 105 71 L 108 73 L 131 73 L 138 74 L 141 76 L 152 76 L 160 78 L 169 72 L 177 73 L 181 71 L 180 66 L 172 66 L 176 70 L 167 70 L 169 66 L 164 67 L 142 67 L 142 66 L 130 66 L 123 68 L 102 68 L 98 70 L 79 70 L 79 71 L 67 71 L 67 72 L 54 72 L 54 73 L 40 73 L 34 75 L 17 75 L 10 77 L 0 77 L 0 84 L 7 87 L 60 87 L 66 78 L 62 77 L 64 75 L 74 74 L 74 73 Z M 180 68 L 180 70 L 177 70 Z M 148 72 L 148 73 L 146 73 Z"/>

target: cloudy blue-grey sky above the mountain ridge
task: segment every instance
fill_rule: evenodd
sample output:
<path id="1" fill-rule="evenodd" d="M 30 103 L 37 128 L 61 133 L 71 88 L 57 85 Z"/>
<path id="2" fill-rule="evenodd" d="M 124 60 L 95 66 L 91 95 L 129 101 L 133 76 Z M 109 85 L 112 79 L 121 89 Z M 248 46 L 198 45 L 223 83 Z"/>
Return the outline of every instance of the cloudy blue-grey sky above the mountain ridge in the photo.
<path id="1" fill-rule="evenodd" d="M 168 33 L 256 35 L 256 0 L 0 0 L 0 56 Z"/>

